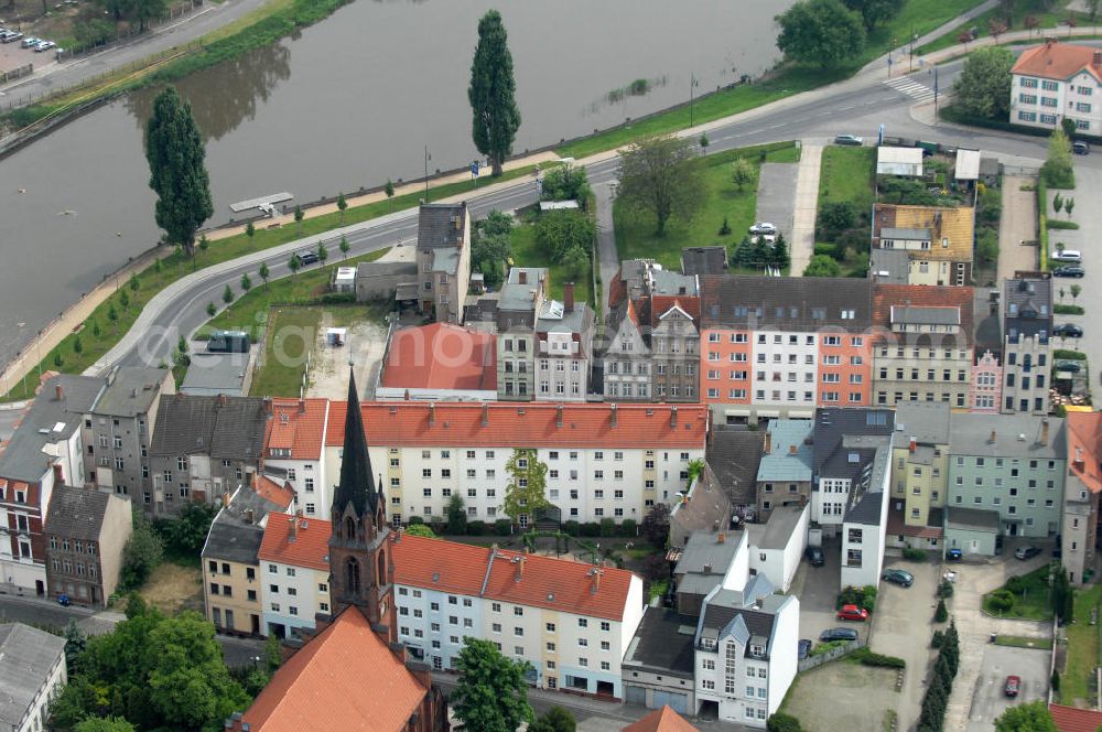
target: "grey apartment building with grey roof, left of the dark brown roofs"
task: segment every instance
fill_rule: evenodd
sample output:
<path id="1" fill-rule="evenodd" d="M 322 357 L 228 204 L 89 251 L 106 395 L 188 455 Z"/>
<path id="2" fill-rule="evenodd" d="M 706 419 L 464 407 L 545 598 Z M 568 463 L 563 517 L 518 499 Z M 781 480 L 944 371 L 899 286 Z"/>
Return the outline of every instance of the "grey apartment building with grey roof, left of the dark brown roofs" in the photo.
<path id="1" fill-rule="evenodd" d="M 130 500 L 142 495 L 149 472 L 149 445 L 161 398 L 176 392 L 172 370 L 119 367 L 108 373 L 104 389 L 85 417 L 89 432 L 86 474 L 95 484 Z"/>

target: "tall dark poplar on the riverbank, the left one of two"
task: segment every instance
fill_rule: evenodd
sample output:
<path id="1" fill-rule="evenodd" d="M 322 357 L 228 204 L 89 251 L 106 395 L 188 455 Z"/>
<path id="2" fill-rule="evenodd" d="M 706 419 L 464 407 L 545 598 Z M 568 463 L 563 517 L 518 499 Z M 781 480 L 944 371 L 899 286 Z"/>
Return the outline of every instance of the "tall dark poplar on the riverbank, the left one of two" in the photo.
<path id="1" fill-rule="evenodd" d="M 203 139 L 192 108 L 168 87 L 153 100 L 145 125 L 149 186 L 156 193 L 155 218 L 170 243 L 183 245 L 191 256 L 195 232 L 214 214 Z"/>

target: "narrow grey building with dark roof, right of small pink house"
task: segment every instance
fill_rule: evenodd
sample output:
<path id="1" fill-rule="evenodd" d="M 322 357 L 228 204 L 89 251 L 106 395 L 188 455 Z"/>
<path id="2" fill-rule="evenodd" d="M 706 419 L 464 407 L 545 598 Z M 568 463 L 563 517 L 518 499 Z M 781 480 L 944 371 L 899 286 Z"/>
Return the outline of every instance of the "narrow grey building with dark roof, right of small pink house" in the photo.
<path id="1" fill-rule="evenodd" d="M 1052 336 L 1052 281 L 1019 278 L 1003 282 L 1004 415 L 1048 413 Z"/>

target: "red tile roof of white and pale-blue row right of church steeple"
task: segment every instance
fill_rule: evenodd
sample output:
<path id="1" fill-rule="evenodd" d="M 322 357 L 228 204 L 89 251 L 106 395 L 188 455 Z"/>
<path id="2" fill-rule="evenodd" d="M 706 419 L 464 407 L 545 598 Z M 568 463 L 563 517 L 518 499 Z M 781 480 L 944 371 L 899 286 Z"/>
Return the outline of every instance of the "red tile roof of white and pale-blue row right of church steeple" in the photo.
<path id="1" fill-rule="evenodd" d="M 490 561 L 490 549 L 408 534 L 391 546 L 396 584 L 615 621 L 624 617 L 634 577 L 622 569 L 597 570 L 592 564 L 501 549 Z M 601 572 L 596 591 L 593 571 Z"/>

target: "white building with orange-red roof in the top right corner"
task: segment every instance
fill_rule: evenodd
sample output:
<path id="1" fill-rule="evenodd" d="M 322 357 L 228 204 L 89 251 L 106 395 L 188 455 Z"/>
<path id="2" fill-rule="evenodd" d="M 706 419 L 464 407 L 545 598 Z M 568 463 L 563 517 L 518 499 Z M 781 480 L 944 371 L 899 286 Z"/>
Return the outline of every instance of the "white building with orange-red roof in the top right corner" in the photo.
<path id="1" fill-rule="evenodd" d="M 1011 76 L 1009 121 L 1052 129 L 1067 118 L 1080 132 L 1099 134 L 1102 51 L 1048 39 L 1024 51 Z"/>

